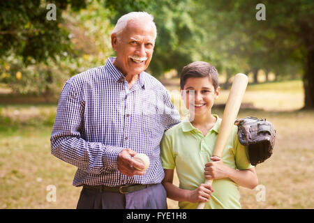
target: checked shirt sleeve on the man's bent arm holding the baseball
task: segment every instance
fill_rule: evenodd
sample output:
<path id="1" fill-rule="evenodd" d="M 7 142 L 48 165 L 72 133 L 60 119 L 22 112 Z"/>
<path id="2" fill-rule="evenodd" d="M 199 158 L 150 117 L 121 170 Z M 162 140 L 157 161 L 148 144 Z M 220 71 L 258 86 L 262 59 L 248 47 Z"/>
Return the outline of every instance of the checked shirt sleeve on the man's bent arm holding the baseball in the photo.
<path id="1" fill-rule="evenodd" d="M 84 99 L 68 81 L 63 86 L 51 134 L 52 155 L 91 174 L 117 169 L 117 157 L 124 149 L 86 141 Z"/>

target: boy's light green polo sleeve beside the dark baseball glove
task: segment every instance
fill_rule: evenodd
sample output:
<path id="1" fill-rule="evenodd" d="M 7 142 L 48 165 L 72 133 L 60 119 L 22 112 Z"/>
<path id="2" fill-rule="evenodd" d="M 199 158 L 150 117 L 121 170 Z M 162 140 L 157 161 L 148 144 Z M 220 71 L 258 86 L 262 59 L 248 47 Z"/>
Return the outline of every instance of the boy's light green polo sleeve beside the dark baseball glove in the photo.
<path id="1" fill-rule="evenodd" d="M 234 131 L 234 158 L 237 169 L 250 169 L 254 167 L 248 160 L 248 147 L 240 144 L 237 131 Z"/>

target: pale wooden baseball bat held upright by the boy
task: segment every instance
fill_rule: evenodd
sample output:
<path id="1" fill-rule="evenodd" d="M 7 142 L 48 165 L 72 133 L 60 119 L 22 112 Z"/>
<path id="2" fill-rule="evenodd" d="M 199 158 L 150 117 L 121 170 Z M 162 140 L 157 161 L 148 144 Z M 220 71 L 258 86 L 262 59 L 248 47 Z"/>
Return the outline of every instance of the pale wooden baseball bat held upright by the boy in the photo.
<path id="1" fill-rule="evenodd" d="M 234 121 L 237 118 L 237 114 L 240 109 L 241 101 L 246 92 L 246 86 L 248 85 L 248 77 L 244 74 L 237 74 L 234 76 L 234 80 L 230 89 L 230 93 L 225 103 L 225 110 L 223 111 L 223 119 L 218 131 L 218 137 L 214 147 L 214 156 L 221 157 L 223 155 L 223 149 L 229 138 L 230 132 L 234 125 Z M 205 180 L 205 184 L 211 185 L 213 180 Z M 197 209 L 203 209 L 205 203 L 199 203 Z"/>

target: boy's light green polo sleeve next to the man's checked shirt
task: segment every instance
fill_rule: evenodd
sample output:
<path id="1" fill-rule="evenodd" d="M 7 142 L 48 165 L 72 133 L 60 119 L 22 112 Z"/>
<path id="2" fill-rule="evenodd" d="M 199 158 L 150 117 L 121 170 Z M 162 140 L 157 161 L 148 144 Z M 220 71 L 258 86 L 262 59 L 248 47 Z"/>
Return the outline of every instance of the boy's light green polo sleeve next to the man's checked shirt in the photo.
<path id="1" fill-rule="evenodd" d="M 166 132 L 167 133 L 167 132 Z M 167 134 L 163 135 L 163 139 L 160 141 L 160 158 L 163 163 L 163 169 L 174 169 L 175 156 L 172 148 L 172 141 Z"/>

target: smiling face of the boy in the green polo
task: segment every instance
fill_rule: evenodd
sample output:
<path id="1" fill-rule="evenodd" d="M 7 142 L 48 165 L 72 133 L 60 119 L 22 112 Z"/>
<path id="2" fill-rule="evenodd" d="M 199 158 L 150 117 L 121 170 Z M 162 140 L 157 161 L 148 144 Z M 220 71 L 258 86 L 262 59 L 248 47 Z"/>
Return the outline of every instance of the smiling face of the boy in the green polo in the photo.
<path id="1" fill-rule="evenodd" d="M 181 96 L 190 113 L 195 117 L 208 116 L 211 114 L 214 100 L 219 96 L 220 87 L 215 90 L 209 77 L 190 77 L 186 79 L 184 91 L 181 90 Z"/>

